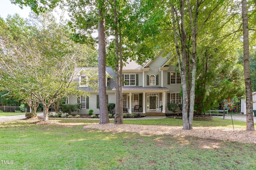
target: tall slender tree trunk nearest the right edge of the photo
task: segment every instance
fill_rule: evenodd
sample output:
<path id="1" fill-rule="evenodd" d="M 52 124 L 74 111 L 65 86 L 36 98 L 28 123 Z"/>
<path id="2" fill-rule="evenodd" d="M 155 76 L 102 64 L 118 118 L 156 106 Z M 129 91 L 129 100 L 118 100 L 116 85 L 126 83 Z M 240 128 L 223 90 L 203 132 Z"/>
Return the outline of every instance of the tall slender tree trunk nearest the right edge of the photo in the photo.
<path id="1" fill-rule="evenodd" d="M 246 130 L 254 131 L 253 108 L 252 108 L 252 81 L 250 77 L 250 54 L 248 35 L 247 2 L 242 0 L 242 20 L 243 20 L 243 43 L 244 43 L 244 82 L 246 90 Z"/>

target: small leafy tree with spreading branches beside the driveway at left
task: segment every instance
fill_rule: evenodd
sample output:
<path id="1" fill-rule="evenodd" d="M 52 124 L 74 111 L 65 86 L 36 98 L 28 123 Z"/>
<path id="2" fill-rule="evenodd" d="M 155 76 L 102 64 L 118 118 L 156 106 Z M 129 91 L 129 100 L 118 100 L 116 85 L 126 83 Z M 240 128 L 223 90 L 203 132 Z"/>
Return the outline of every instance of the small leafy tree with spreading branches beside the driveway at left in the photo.
<path id="1" fill-rule="evenodd" d="M 78 82 L 73 81 L 75 59 L 79 58 L 75 56 L 76 44 L 70 40 L 66 25 L 57 24 L 50 14 L 32 14 L 28 25 L 8 25 L 12 20 L 19 23 L 21 19 L 7 19 L 4 31 L 8 33 L 1 37 L 1 81 L 12 93 L 21 91 L 39 100 L 47 121 L 52 103 L 68 95 L 87 94 L 76 90 Z M 12 34 L 14 27 L 20 34 Z"/>

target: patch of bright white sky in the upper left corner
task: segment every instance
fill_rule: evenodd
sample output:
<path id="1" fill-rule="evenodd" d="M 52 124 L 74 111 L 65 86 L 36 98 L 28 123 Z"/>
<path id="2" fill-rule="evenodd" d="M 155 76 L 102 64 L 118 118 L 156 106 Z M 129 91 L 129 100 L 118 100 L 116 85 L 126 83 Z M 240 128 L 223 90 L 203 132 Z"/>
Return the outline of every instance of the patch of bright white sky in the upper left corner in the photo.
<path id="1" fill-rule="evenodd" d="M 12 4 L 10 0 L 1 0 L 0 4 L 0 17 L 4 18 L 4 20 L 8 14 L 13 16 L 15 13 L 18 13 L 22 18 L 28 18 L 31 11 L 28 7 L 21 9 L 19 6 Z"/>

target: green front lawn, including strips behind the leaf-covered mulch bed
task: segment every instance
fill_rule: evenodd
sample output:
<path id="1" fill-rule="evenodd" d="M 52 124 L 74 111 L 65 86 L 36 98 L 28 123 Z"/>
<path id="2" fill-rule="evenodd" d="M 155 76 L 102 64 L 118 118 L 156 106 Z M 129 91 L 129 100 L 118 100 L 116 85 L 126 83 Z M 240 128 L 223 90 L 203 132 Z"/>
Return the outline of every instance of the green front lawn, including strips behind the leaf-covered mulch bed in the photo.
<path id="1" fill-rule="evenodd" d="M 0 123 L 0 169 L 27 170 L 254 170 L 256 145 L 196 137 L 140 135 L 83 129 L 98 120 L 51 119 Z M 124 123 L 178 125 L 180 119 L 124 120 Z M 230 120 L 193 121 L 194 126 L 229 127 Z M 245 122 L 235 122 L 246 126 Z"/>

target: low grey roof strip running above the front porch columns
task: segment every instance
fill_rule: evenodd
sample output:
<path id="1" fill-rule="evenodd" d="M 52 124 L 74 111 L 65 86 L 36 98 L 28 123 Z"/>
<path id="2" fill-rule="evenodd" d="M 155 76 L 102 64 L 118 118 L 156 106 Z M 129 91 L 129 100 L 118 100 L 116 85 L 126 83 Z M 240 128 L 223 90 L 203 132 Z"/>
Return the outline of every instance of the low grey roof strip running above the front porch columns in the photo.
<path id="1" fill-rule="evenodd" d="M 112 89 L 113 91 L 116 91 L 116 88 L 114 87 Z M 166 87 L 142 87 L 142 86 L 123 86 L 123 93 L 124 92 L 167 92 L 169 91 Z"/>

